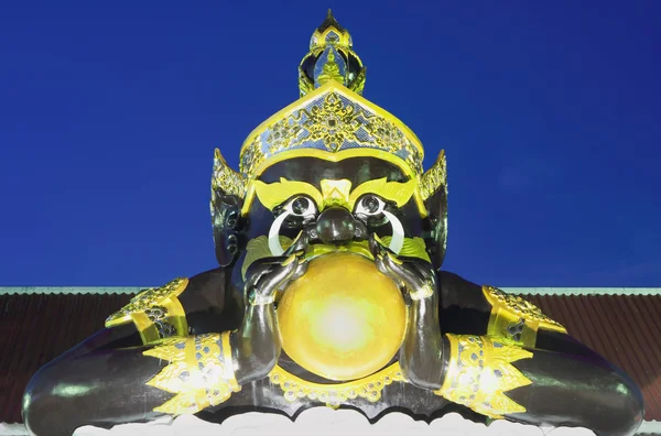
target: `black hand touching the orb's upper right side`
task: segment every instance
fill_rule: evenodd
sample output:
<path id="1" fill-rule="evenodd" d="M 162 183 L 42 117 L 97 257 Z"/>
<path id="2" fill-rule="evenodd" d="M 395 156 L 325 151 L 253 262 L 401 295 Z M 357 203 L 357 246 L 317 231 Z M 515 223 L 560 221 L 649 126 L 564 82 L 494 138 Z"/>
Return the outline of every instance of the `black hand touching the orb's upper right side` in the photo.
<path id="1" fill-rule="evenodd" d="M 369 237 L 369 248 L 377 269 L 403 287 L 411 299 L 424 299 L 435 295 L 436 271 L 430 262 L 419 258 L 398 257 L 373 233 Z"/>

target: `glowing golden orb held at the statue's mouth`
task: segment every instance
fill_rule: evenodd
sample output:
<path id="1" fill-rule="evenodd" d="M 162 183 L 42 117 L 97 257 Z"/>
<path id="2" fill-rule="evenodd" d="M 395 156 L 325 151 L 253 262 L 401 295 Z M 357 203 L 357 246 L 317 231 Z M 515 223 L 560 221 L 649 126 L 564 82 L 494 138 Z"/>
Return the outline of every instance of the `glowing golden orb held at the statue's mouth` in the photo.
<path id="1" fill-rule="evenodd" d="M 355 380 L 398 352 L 407 306 L 375 262 L 342 252 L 313 259 L 278 305 L 282 348 L 301 367 L 329 380 Z"/>

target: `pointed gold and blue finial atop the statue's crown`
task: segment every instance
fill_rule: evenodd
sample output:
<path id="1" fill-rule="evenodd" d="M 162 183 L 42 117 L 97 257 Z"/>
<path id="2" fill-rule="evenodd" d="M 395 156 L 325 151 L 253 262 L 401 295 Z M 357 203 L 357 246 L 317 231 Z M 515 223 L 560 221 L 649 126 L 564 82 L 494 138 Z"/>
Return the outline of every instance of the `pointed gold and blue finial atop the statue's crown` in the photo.
<path id="1" fill-rule="evenodd" d="M 329 79 L 362 94 L 365 72 L 362 62 L 354 52 L 351 35 L 328 9 L 326 19 L 312 34 L 310 52 L 299 66 L 301 97 Z"/>

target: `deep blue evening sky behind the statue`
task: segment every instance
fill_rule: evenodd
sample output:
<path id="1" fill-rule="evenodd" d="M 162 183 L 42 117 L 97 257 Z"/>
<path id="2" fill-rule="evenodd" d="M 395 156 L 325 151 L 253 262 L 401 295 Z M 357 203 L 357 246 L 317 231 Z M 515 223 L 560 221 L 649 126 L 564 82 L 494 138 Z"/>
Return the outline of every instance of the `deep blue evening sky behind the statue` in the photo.
<path id="1" fill-rule="evenodd" d="M 136 6 L 139 4 L 139 6 Z M 0 286 L 215 266 L 214 148 L 297 97 L 332 7 L 365 96 L 447 153 L 444 269 L 661 286 L 661 2 L 39 2 L 0 13 Z"/>

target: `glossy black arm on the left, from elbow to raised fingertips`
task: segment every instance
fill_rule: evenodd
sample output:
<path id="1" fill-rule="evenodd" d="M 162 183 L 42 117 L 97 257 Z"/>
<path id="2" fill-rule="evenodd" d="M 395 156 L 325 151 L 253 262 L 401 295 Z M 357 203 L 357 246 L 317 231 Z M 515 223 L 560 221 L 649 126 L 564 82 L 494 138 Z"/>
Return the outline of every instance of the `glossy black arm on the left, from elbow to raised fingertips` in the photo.
<path id="1" fill-rule="evenodd" d="M 292 251 L 299 248 L 294 244 Z M 50 362 L 28 385 L 26 427 L 36 436 L 68 436 L 84 425 L 111 427 L 191 414 L 227 401 L 275 364 L 281 347 L 273 295 L 303 272 L 300 259 L 288 253 L 249 269 L 247 304 L 236 330 L 174 335 L 140 345 L 150 333 L 139 329 L 138 335 L 133 328 L 118 341 L 101 344 L 91 337 Z M 119 337 L 131 327 L 119 323 L 95 336 Z"/>

